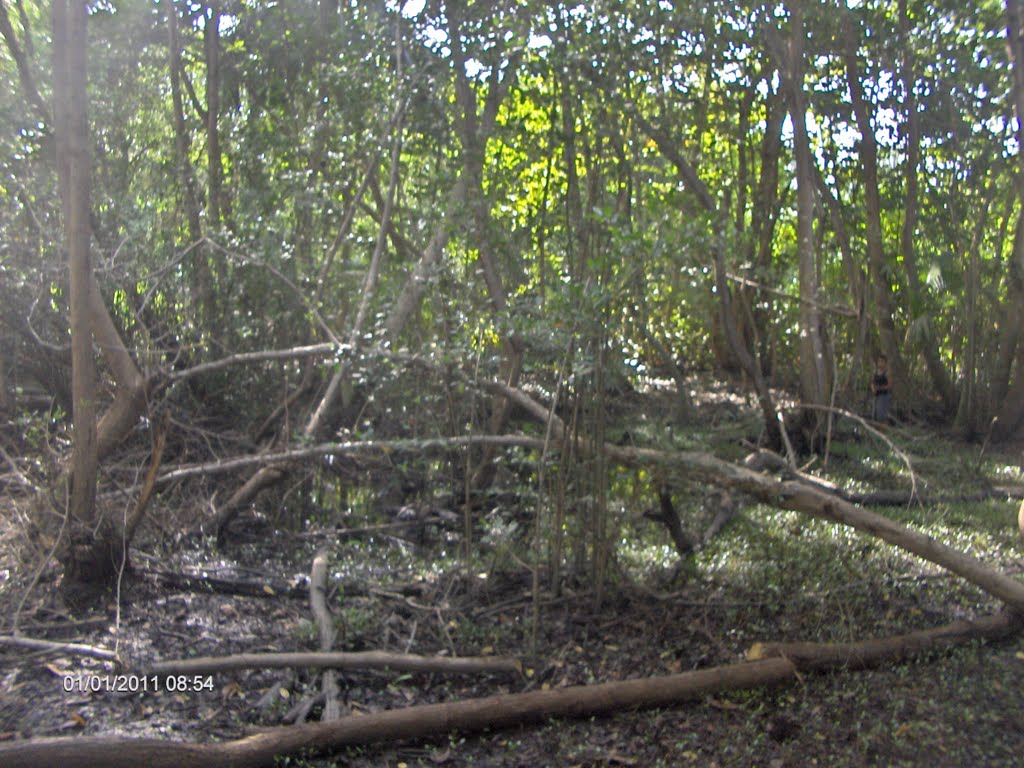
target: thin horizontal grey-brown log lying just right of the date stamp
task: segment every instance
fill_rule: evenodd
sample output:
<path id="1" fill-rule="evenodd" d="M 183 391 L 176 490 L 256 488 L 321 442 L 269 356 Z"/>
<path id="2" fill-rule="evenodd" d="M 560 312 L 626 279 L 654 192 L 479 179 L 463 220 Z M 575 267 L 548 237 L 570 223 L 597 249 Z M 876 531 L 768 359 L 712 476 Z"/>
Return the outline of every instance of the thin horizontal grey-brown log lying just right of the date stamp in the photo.
<path id="1" fill-rule="evenodd" d="M 394 670 L 395 672 L 439 672 L 473 674 L 479 672 L 521 674 L 522 664 L 508 656 L 420 656 L 414 653 L 390 653 L 368 650 L 356 653 L 239 653 L 233 656 L 197 656 L 158 662 L 150 668 L 154 675 L 206 675 L 251 669 L 305 667 L 334 670 Z"/>

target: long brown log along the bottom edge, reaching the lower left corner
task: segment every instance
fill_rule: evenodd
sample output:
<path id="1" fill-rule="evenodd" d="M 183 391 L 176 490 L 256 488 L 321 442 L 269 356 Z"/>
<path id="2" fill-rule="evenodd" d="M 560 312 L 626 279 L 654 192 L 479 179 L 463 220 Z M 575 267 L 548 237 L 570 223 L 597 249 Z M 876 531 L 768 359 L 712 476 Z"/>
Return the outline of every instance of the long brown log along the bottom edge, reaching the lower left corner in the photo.
<path id="1" fill-rule="evenodd" d="M 511 693 L 464 701 L 410 707 L 329 723 L 273 728 L 236 741 L 195 744 L 116 736 L 45 738 L 0 745 L 5 768 L 257 768 L 275 758 L 324 753 L 352 744 L 479 731 L 552 717 L 590 717 L 623 710 L 669 707 L 723 690 L 776 685 L 796 678 L 785 658 L 600 685 Z"/>

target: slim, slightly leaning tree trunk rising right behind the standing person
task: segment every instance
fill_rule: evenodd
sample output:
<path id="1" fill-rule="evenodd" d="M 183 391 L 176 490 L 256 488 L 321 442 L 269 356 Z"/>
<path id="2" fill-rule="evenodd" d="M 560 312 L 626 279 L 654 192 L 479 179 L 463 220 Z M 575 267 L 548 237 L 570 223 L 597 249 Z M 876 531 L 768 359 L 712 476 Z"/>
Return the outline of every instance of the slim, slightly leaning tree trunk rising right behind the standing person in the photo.
<path id="1" fill-rule="evenodd" d="M 879 331 L 882 351 L 889 358 L 889 380 L 893 396 L 901 408 L 911 403 L 906 364 L 900 347 L 899 335 L 893 318 L 892 292 L 889 286 L 889 263 L 882 238 L 882 197 L 879 191 L 879 148 L 874 140 L 874 128 L 868 104 L 864 96 L 864 86 L 860 80 L 860 63 L 857 57 L 859 26 L 847 16 L 847 31 L 844 40 L 844 59 L 847 81 L 853 102 L 853 112 L 860 131 L 857 146 L 864 181 L 864 215 L 867 237 L 867 266 L 871 280 L 874 300 L 874 323 Z"/>

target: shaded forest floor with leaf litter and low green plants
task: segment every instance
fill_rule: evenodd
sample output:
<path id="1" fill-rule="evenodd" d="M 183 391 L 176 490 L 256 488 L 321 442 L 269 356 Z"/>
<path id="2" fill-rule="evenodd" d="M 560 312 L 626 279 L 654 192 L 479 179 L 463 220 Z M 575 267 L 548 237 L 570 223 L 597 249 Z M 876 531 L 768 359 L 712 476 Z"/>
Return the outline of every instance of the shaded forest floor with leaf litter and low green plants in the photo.
<path id="1" fill-rule="evenodd" d="M 714 413 L 705 446 L 737 454 L 730 434 L 750 428 L 745 412 Z M 1007 572 L 1024 570 L 1016 502 L 941 501 L 994 485 L 1019 487 L 1016 453 L 983 453 L 915 426 L 887 434 L 912 461 L 918 482 L 939 501 L 882 512 Z M 691 444 L 694 438 L 686 439 Z M 885 443 L 857 430 L 840 433 L 828 466 L 812 471 L 847 489 L 906 489 L 910 482 Z M 531 579 L 523 563 L 528 516 L 501 503 L 480 522 L 469 567 L 457 554 L 461 520 L 431 525 L 417 537 L 387 530 L 343 538 L 345 527 L 381 520 L 324 519 L 290 532 L 250 518 L 239 522 L 231 546 L 220 554 L 209 542 L 167 534 L 174 526 L 165 520 L 140 542 L 120 595 L 75 611 L 55 589 L 56 570 L 46 570 L 23 607 L 20 630 L 117 645 L 136 669 L 182 656 L 315 650 L 304 574 L 326 547 L 337 585 L 330 604 L 339 649 L 524 662 L 521 678 L 345 672 L 339 675 L 344 709 L 360 714 L 701 669 L 739 660 L 758 641 L 862 640 L 999 607 L 980 590 L 876 539 L 753 503 L 741 503 L 707 548 L 676 567 L 665 530 L 640 514 L 642 504 L 652 502 L 649 488 L 635 480 L 624 474 L 612 486 L 623 503 L 611 585 L 598 596 L 581 574 L 567 579 L 561 594 L 545 592 L 536 646 Z M 640 490 L 630 498 L 628 487 Z M 700 503 L 701 489 L 680 482 L 675 493 L 681 516 L 699 531 L 711 514 Z M 175 586 L 168 573 L 191 574 L 195 582 Z M 248 585 L 255 594 L 238 594 L 230 584 Z M 0 582 L 4 615 L 20 597 L 13 581 Z M 71 621 L 87 623 L 62 624 Z M 63 689 L 66 675 L 110 673 L 102 662 L 72 654 L 0 651 L 0 738 L 237 738 L 254 727 L 280 725 L 319 682 L 306 671 L 254 670 L 215 675 L 211 689 L 199 691 Z M 805 675 L 788 687 L 724 693 L 673 709 L 444 734 L 282 764 L 1016 766 L 1024 755 L 1021 712 L 1024 639 L 1016 638 L 865 672 Z M 314 708 L 311 717 L 317 714 Z"/>

